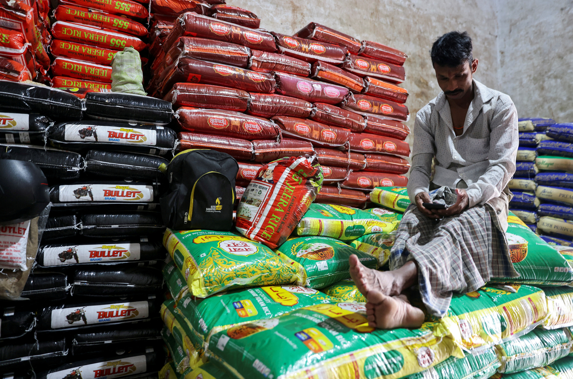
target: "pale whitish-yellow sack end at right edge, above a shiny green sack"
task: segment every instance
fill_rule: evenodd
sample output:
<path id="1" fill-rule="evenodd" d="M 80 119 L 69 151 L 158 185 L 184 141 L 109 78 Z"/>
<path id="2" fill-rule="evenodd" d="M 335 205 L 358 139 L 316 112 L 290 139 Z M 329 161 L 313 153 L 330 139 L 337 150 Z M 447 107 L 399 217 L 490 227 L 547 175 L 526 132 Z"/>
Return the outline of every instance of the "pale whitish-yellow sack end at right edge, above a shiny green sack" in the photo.
<path id="1" fill-rule="evenodd" d="M 547 318 L 541 327 L 556 329 L 573 326 L 573 288 L 568 286 L 545 288 Z"/>

